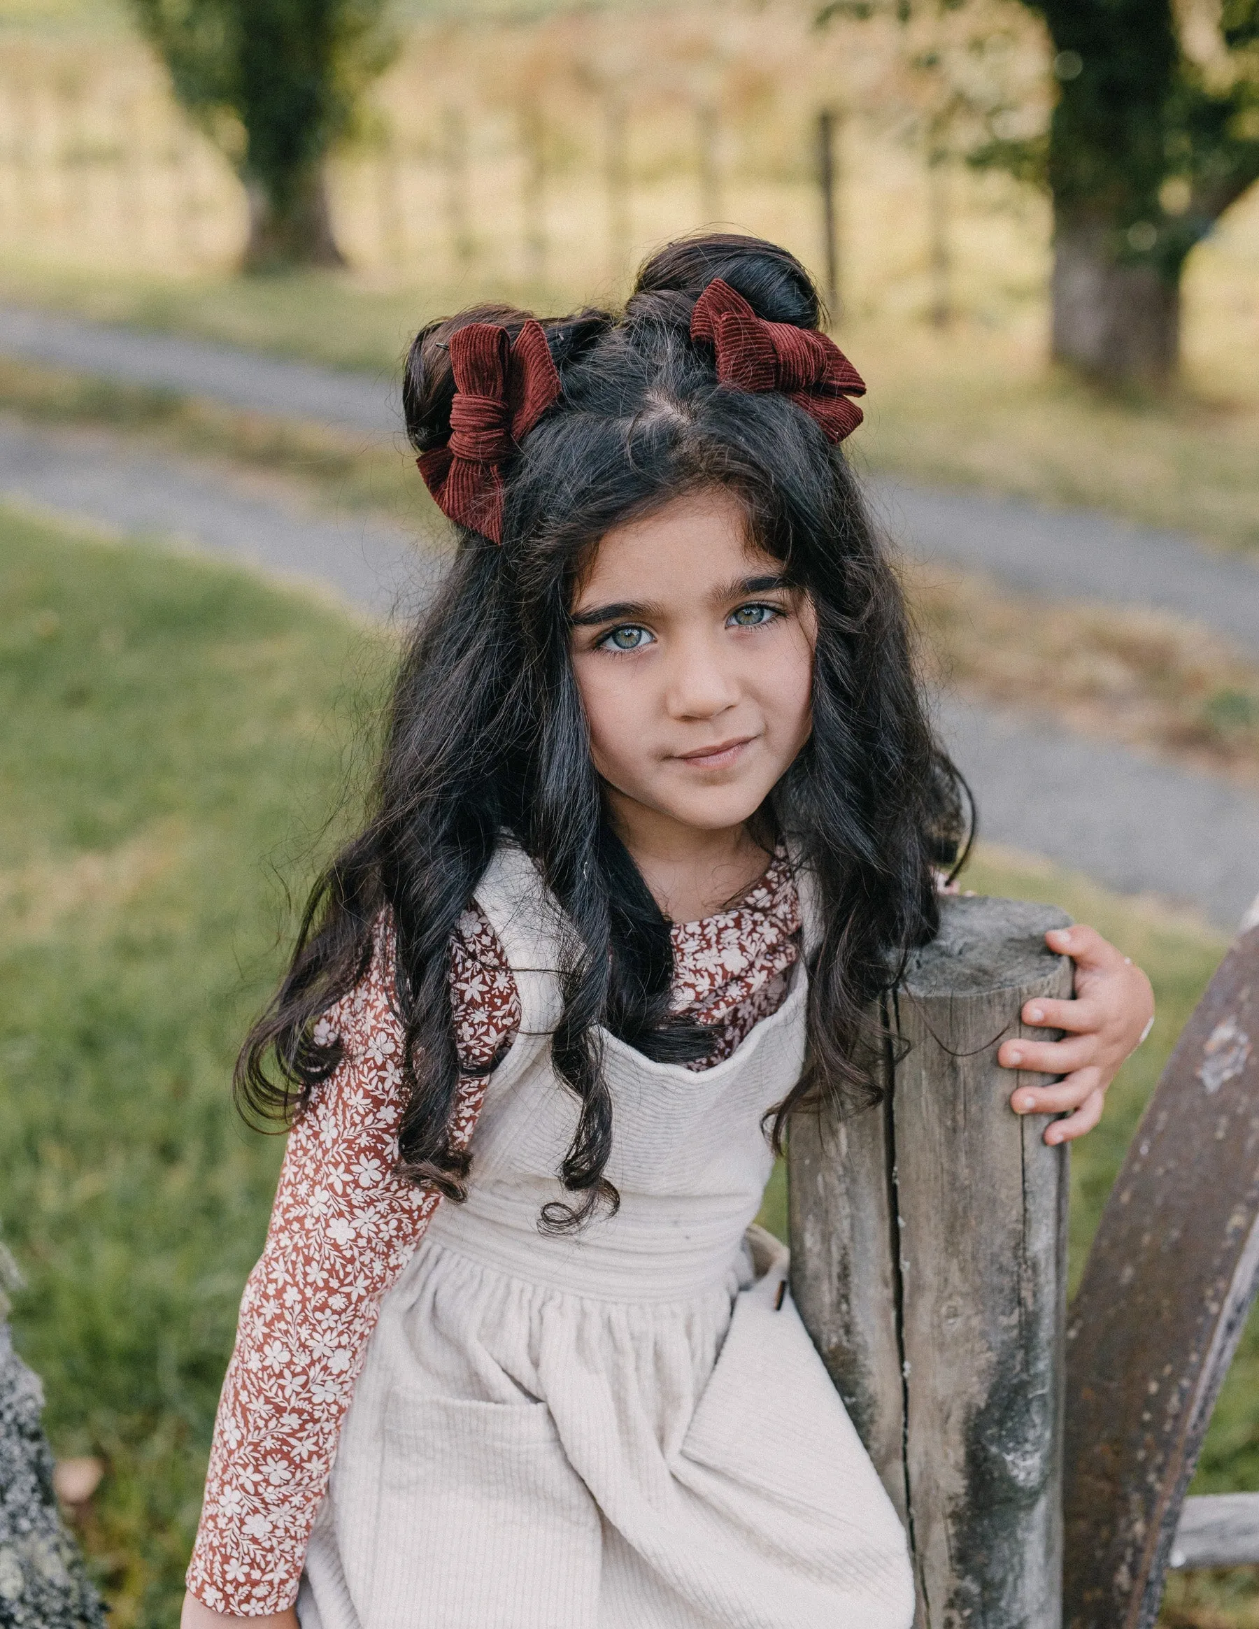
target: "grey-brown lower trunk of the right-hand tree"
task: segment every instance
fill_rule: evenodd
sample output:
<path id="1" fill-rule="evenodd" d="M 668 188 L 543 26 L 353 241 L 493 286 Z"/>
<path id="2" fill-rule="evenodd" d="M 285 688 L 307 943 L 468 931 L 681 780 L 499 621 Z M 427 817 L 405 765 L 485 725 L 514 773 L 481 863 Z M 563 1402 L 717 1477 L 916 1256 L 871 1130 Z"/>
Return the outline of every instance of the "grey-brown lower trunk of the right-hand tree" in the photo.
<path id="1" fill-rule="evenodd" d="M 1161 384 L 1179 360 L 1181 269 L 1124 261 L 1117 236 L 1109 223 L 1057 222 L 1054 358 L 1104 384 Z"/>

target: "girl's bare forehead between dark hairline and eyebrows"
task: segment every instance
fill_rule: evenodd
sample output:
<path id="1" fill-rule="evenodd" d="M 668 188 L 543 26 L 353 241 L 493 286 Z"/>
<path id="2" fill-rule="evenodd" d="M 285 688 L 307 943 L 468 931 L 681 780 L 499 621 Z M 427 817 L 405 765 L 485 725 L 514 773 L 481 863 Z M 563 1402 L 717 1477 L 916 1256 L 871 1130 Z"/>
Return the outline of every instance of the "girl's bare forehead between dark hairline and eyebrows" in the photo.
<path id="1" fill-rule="evenodd" d="M 604 533 L 577 583 L 573 609 L 707 596 L 757 565 L 780 569 L 752 541 L 743 503 L 720 489 L 692 492 Z"/>

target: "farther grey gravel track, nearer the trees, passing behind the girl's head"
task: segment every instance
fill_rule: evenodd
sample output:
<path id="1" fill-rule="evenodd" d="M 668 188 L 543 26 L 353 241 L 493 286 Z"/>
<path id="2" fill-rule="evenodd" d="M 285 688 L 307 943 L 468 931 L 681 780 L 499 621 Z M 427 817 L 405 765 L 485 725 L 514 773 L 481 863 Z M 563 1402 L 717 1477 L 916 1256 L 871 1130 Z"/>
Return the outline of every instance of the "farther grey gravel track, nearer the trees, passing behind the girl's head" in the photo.
<path id="1" fill-rule="evenodd" d="M 0 306 L 0 353 L 340 428 L 394 433 L 401 425 L 388 373 L 342 373 L 176 334 Z M 886 477 L 870 485 L 893 536 L 920 559 L 1060 599 L 1176 611 L 1259 656 L 1259 564 L 1251 559 L 1091 512 Z"/>

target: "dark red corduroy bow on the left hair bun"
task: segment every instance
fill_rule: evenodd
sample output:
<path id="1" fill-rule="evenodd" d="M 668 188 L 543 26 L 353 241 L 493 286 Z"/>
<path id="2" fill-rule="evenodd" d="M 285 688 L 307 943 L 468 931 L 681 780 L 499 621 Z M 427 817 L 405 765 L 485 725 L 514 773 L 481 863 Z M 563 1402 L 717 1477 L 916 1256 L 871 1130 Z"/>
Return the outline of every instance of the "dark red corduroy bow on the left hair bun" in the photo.
<path id="1" fill-rule="evenodd" d="M 498 323 L 469 323 L 450 337 L 454 401 L 450 440 L 415 464 L 436 507 L 492 542 L 503 541 L 502 466 L 562 394 L 536 318 L 508 337 Z"/>

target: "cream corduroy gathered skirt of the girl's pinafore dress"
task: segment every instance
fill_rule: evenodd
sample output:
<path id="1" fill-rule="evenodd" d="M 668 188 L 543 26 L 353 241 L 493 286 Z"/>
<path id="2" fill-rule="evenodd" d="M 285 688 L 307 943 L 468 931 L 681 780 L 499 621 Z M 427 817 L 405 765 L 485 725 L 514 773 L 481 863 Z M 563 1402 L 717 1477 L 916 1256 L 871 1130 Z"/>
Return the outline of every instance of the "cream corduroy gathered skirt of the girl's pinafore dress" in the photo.
<path id="1" fill-rule="evenodd" d="M 435 1227 L 391 1290 L 301 1629 L 909 1629 L 904 1535 L 783 1246 L 752 1228 L 676 1298 L 632 1262 L 581 1293 L 520 1267 Z"/>

